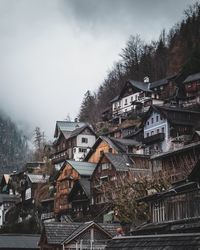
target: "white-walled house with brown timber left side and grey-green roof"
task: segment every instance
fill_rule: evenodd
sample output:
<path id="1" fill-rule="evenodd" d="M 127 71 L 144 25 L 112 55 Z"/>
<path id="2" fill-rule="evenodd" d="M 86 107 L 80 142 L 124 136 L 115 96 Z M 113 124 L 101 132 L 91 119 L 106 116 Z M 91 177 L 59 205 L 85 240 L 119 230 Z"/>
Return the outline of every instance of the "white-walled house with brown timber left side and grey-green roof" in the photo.
<path id="1" fill-rule="evenodd" d="M 57 121 L 54 133 L 52 163 L 60 168 L 67 159 L 80 161 L 93 146 L 96 135 L 86 123 Z"/>

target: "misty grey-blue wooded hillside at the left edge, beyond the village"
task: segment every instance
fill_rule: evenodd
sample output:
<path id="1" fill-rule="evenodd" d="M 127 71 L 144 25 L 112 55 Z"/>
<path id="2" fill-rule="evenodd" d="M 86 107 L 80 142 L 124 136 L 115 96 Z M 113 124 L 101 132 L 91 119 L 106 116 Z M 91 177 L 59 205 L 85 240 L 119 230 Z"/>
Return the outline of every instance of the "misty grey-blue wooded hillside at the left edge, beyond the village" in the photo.
<path id="1" fill-rule="evenodd" d="M 0 173 L 19 169 L 24 164 L 27 149 L 26 137 L 0 112 Z"/>

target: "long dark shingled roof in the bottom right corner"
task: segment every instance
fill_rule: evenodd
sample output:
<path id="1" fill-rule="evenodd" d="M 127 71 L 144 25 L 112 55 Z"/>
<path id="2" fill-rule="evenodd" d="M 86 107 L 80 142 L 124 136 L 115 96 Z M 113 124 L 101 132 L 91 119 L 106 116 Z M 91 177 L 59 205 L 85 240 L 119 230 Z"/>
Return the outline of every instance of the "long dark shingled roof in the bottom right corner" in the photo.
<path id="1" fill-rule="evenodd" d="M 199 233 L 141 235 L 115 237 L 106 250 L 160 250 L 160 249 L 198 249 L 200 247 Z"/>

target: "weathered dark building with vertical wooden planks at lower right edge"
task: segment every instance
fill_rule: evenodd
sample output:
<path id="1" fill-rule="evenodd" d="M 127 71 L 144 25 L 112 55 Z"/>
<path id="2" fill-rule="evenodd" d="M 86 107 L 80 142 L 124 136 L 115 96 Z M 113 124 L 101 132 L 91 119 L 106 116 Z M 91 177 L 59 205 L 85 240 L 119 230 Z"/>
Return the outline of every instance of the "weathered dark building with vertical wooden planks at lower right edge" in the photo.
<path id="1" fill-rule="evenodd" d="M 171 188 L 140 199 L 149 204 L 151 222 L 135 234 L 197 233 L 200 229 L 200 160 L 192 172 Z"/>

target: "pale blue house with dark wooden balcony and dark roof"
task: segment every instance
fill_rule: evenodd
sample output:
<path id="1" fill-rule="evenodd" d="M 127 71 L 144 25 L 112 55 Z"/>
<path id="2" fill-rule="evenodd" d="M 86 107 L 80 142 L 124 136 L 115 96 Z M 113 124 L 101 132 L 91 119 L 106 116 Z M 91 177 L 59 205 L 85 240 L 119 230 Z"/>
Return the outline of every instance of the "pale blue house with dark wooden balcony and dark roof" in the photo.
<path id="1" fill-rule="evenodd" d="M 145 154 L 158 154 L 183 146 L 200 126 L 199 118 L 200 112 L 151 106 L 141 125 Z"/>

